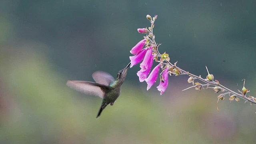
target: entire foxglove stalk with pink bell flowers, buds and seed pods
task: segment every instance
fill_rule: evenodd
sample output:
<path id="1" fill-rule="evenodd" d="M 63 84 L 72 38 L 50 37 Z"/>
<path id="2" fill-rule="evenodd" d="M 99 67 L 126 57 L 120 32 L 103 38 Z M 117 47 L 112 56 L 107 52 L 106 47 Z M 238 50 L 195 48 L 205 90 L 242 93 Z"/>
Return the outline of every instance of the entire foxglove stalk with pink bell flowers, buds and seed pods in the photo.
<path id="1" fill-rule="evenodd" d="M 144 36 L 144 39 L 140 40 L 138 44 L 136 44 L 132 50 L 130 50 L 131 54 L 134 54 L 134 56 L 130 56 L 131 60 L 131 66 L 134 66 L 138 63 L 140 63 L 140 70 L 137 72 L 137 76 L 139 77 L 140 82 L 146 82 L 148 84 L 147 90 L 149 90 L 152 85 L 156 82 L 158 78 L 159 70 L 161 69 L 162 72 L 160 72 L 160 84 L 156 87 L 158 91 L 160 91 L 160 94 L 162 95 L 168 86 L 168 76 L 179 76 L 179 75 L 188 75 L 188 83 L 192 83 L 193 86 L 189 88 L 195 88 L 198 91 L 201 91 L 203 89 L 212 88 L 214 92 L 222 93 L 217 98 L 219 100 L 224 100 L 225 95 L 231 95 L 229 100 L 232 102 L 233 100 L 236 100 L 237 102 L 240 101 L 239 98 L 242 98 L 246 100 L 246 102 L 250 102 L 251 104 L 256 104 L 256 98 L 253 96 L 246 97 L 246 94 L 250 92 L 250 90 L 246 89 L 245 87 L 242 88 L 242 91 L 238 90 L 240 92 L 234 92 L 225 86 L 222 86 L 218 80 L 214 80 L 214 75 L 210 74 L 207 70 L 207 76 L 206 78 L 202 78 L 201 76 L 196 76 L 194 74 L 191 74 L 185 70 L 182 70 L 181 68 L 177 67 L 175 62 L 172 64 L 170 62 L 169 54 L 160 53 L 158 51 L 158 47 L 161 44 L 157 44 L 155 41 L 155 35 L 153 34 L 153 28 L 154 28 L 154 22 L 157 18 L 157 16 L 154 16 L 153 18 L 150 15 L 147 15 L 146 18 L 150 21 L 151 26 L 148 28 L 138 28 L 138 32 L 142 34 L 146 34 Z M 159 58 L 159 60 L 158 60 Z M 158 62 L 158 64 L 152 69 L 152 65 L 154 60 Z M 151 72 L 150 72 L 151 71 Z M 200 82 L 194 82 L 195 80 L 199 80 Z M 245 80 L 244 80 L 245 84 Z M 186 88 L 185 90 L 189 89 Z M 238 98 L 239 97 L 239 98 Z M 218 107 L 217 107 L 218 108 Z"/>

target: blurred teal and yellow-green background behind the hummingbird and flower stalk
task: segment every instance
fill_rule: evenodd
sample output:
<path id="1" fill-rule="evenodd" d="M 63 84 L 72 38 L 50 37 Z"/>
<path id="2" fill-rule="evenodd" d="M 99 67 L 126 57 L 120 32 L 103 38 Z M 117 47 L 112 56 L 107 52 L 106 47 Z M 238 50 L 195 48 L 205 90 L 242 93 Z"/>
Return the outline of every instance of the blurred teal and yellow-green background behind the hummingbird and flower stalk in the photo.
<path id="1" fill-rule="evenodd" d="M 101 99 L 66 86 L 93 81 L 103 70 L 114 77 L 130 49 L 158 15 L 160 52 L 196 75 L 255 96 L 255 0 L 0 0 L 1 144 L 206 144 L 254 143 L 256 107 L 216 102 L 212 90 L 182 92 L 187 76 L 159 80 L 149 91 L 128 71 L 122 94 L 99 119 Z M 155 65 L 155 64 L 154 64 Z"/>

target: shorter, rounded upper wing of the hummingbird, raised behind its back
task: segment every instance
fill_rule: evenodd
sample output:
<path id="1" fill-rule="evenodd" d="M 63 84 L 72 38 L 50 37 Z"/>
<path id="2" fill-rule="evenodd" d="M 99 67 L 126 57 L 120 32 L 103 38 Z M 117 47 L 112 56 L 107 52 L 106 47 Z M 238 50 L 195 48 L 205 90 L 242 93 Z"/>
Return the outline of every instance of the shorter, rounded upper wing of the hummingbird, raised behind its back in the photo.
<path id="1" fill-rule="evenodd" d="M 112 82 L 115 81 L 113 76 L 106 72 L 97 71 L 92 74 L 92 78 L 95 80 L 95 82 L 104 84 L 106 86 L 109 86 Z"/>

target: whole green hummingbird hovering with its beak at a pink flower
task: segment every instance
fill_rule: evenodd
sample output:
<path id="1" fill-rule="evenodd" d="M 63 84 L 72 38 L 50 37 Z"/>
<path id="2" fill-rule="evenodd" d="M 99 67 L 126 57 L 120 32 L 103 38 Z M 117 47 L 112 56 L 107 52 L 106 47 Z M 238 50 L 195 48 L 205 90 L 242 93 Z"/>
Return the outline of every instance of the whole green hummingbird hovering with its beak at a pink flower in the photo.
<path id="1" fill-rule="evenodd" d="M 99 96 L 102 98 L 100 110 L 96 117 L 98 118 L 102 110 L 104 110 L 108 104 L 113 106 L 114 102 L 120 95 L 121 86 L 126 78 L 127 70 L 130 65 L 131 63 L 129 63 L 126 68 L 118 72 L 116 80 L 106 72 L 97 71 L 92 74 L 92 78 L 95 82 L 68 80 L 67 86 L 85 94 Z"/>

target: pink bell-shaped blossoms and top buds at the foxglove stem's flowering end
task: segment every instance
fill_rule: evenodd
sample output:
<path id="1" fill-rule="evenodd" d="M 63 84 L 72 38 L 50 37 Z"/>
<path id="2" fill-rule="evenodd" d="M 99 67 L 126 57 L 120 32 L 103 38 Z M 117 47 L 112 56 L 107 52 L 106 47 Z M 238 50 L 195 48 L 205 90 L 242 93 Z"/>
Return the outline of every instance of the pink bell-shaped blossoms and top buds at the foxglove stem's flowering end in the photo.
<path id="1" fill-rule="evenodd" d="M 138 63 L 140 63 L 140 70 L 137 72 L 137 76 L 139 77 L 140 82 L 146 81 L 148 84 L 147 90 L 151 88 L 151 86 L 156 82 L 158 78 L 158 72 L 159 69 L 162 69 L 162 73 L 160 74 L 160 84 L 156 88 L 160 91 L 160 94 L 162 95 L 168 86 L 168 75 L 170 74 L 170 67 L 166 66 L 164 68 L 164 60 L 170 60 L 168 57 L 169 55 L 164 52 L 160 57 L 160 61 L 158 61 L 158 55 L 157 55 L 157 47 L 158 45 L 154 42 L 152 37 L 154 37 L 152 33 L 152 29 L 154 27 L 154 21 L 156 20 L 157 16 L 152 17 L 147 15 L 146 16 L 148 20 L 151 22 L 151 27 L 149 28 L 138 28 L 138 32 L 142 34 L 147 34 L 144 36 L 143 40 L 140 40 L 138 44 L 136 44 L 132 50 L 130 50 L 131 54 L 134 54 L 134 56 L 130 56 L 131 60 L 131 66 L 134 66 Z M 145 47 L 145 48 L 144 48 Z M 159 64 L 153 68 L 153 70 L 150 73 L 150 70 L 152 68 L 153 62 L 156 60 L 156 62 L 159 62 Z"/>

